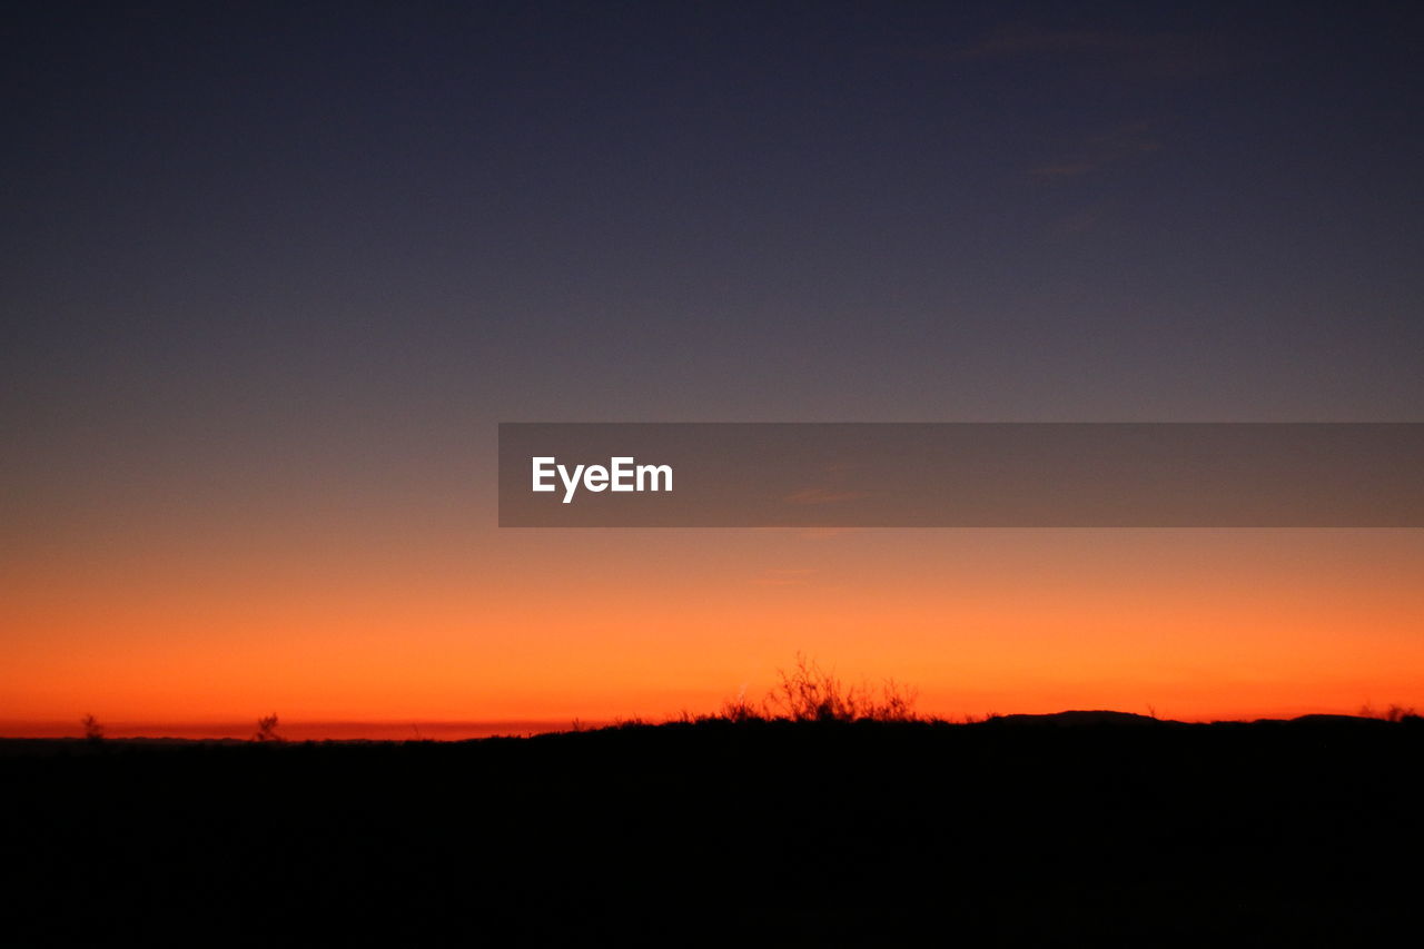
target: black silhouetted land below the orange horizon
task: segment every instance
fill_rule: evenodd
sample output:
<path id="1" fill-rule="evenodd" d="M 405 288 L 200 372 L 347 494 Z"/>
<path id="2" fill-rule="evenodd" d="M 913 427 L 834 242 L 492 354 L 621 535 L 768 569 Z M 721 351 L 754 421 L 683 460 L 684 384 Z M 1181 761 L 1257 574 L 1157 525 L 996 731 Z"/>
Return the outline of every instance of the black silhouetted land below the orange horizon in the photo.
<path id="1" fill-rule="evenodd" d="M 1418 720 L 1084 712 L 3 741 L 0 943 L 1404 945 L 1421 752 Z"/>

